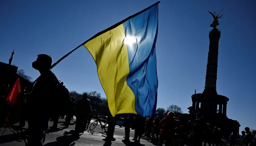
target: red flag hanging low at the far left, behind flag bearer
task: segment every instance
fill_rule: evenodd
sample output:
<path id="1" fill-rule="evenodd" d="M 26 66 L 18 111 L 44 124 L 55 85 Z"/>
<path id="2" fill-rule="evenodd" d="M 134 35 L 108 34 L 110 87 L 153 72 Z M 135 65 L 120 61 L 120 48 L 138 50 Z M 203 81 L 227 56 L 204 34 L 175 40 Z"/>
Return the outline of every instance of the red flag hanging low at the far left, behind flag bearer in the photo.
<path id="1" fill-rule="evenodd" d="M 20 116 L 20 104 L 21 101 L 17 99 L 17 96 L 20 92 L 20 82 L 19 78 L 17 78 L 15 84 L 13 85 L 11 91 L 8 93 L 7 96 L 7 103 L 12 104 L 11 110 L 9 111 L 7 117 L 6 117 L 6 126 L 10 127 L 17 122 L 19 122 L 19 116 Z"/>

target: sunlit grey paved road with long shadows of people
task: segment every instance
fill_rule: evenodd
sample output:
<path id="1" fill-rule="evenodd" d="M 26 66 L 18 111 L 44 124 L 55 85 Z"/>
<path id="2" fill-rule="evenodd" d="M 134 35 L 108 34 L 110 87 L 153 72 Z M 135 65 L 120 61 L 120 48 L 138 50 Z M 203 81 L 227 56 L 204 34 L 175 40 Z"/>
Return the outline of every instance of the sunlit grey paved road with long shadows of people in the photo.
<path id="1" fill-rule="evenodd" d="M 136 146 L 133 141 L 131 142 L 123 142 L 124 139 L 124 128 L 116 127 L 114 132 L 114 138 L 116 141 L 112 143 L 105 143 L 102 141 L 105 138 L 105 135 L 102 135 L 99 132 L 102 132 L 100 126 L 98 125 L 94 131 L 85 131 L 84 134 L 80 135 L 79 139 L 74 139 L 72 133 L 74 132 L 75 125 L 73 120 L 69 128 L 64 128 L 62 125 L 64 120 L 60 119 L 58 124 L 57 131 L 50 131 L 49 134 L 46 135 L 46 140 L 44 146 Z M 93 120 L 91 121 L 93 122 Z M 52 126 L 53 122 L 50 122 L 50 126 Z M 1 130 L 0 132 L 2 132 Z M 91 134 L 90 132 L 94 132 Z M 24 142 L 17 142 L 19 139 L 18 135 L 12 134 L 12 132 L 7 129 L 3 135 L 0 133 L 0 146 L 25 146 Z M 130 139 L 134 137 L 134 131 L 130 132 Z M 154 146 L 153 143 L 150 143 L 144 139 L 141 140 L 141 145 L 138 146 Z M 155 144 L 156 145 L 156 144 Z"/>

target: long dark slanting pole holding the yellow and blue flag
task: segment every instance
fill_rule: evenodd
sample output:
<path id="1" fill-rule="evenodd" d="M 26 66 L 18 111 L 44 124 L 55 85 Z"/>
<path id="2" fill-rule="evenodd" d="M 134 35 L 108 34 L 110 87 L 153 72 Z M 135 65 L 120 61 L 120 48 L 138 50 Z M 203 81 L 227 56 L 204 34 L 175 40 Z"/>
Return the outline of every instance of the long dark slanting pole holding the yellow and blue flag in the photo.
<path id="1" fill-rule="evenodd" d="M 140 11 L 140 12 L 138 12 L 138 13 L 132 15 L 132 16 L 129 16 L 128 18 L 126 18 L 126 19 L 124 19 L 124 20 L 122 20 L 122 21 L 120 21 L 120 22 L 114 24 L 113 26 L 110 26 L 109 28 L 107 28 L 107 29 L 105 29 L 105 30 L 103 30 L 103 31 L 101 31 L 101 32 L 98 32 L 98 33 L 95 34 L 93 37 L 91 37 L 91 38 L 88 39 L 87 41 L 83 42 L 83 43 L 82 43 L 81 45 L 79 45 L 78 47 L 76 47 L 74 50 L 70 51 L 68 54 L 66 54 L 66 55 L 64 55 L 63 57 L 61 57 L 57 62 L 55 62 L 55 63 L 51 66 L 50 69 L 54 68 L 54 66 L 56 66 L 57 64 L 59 64 L 60 61 L 62 61 L 62 60 L 63 60 L 64 58 L 66 58 L 69 54 L 71 54 L 72 52 L 74 52 L 76 49 L 78 49 L 79 47 L 83 46 L 83 45 L 86 44 L 87 42 L 91 41 L 92 39 L 98 37 L 99 35 L 101 35 L 101 34 L 103 34 L 103 33 L 105 33 L 105 32 L 108 32 L 108 31 L 112 30 L 113 28 L 116 28 L 117 26 L 123 24 L 123 23 L 126 22 L 127 20 L 129 20 L 129 19 L 131 19 L 131 18 L 133 18 L 133 17 L 135 17 L 135 16 L 137 16 L 137 15 L 139 15 L 139 14 L 142 14 L 143 12 L 147 11 L 148 9 L 154 7 L 155 5 L 157 5 L 157 4 L 159 4 L 159 3 L 160 3 L 160 1 L 158 1 L 157 3 L 155 3 L 155 4 L 153 4 L 153 5 L 149 6 L 149 7 L 147 7 L 146 9 L 143 9 L 142 11 Z"/>

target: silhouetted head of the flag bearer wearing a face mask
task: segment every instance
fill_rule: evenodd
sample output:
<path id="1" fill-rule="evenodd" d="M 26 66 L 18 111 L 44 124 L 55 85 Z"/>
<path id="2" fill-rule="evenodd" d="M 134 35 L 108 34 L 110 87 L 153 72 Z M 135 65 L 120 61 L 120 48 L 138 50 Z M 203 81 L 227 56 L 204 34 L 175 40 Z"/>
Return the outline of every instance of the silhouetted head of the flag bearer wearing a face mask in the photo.
<path id="1" fill-rule="evenodd" d="M 32 68 L 45 72 L 50 70 L 52 66 L 52 57 L 46 54 L 37 55 L 37 60 L 32 63 Z"/>

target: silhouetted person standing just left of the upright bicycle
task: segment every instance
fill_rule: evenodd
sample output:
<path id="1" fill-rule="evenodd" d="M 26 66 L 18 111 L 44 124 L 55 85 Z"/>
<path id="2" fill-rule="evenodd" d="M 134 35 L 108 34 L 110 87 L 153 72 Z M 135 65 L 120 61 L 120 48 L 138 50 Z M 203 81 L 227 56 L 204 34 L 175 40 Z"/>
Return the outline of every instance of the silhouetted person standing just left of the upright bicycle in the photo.
<path id="1" fill-rule="evenodd" d="M 88 118 L 90 114 L 90 100 L 87 99 L 87 93 L 83 94 L 83 98 L 79 99 L 75 106 L 76 126 L 75 137 L 79 137 L 79 134 L 84 131 L 83 122 Z"/>

